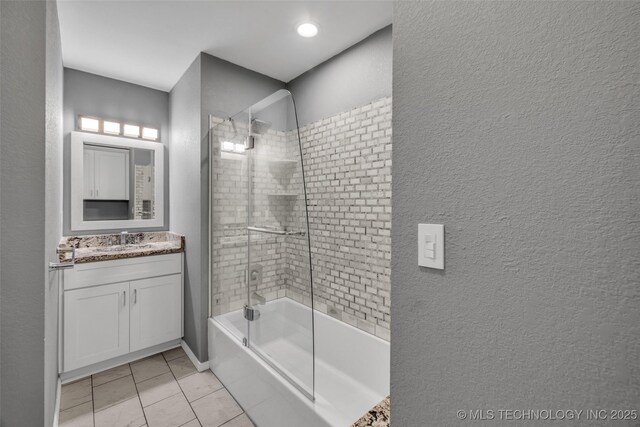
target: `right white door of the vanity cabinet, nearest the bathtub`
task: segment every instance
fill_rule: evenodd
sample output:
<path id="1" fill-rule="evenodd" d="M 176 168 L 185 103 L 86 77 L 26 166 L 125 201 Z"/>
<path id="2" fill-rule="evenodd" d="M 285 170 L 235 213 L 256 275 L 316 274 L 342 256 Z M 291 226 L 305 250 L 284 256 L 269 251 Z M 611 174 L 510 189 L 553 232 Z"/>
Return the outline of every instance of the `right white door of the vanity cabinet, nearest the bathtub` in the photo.
<path id="1" fill-rule="evenodd" d="M 182 337 L 182 275 L 131 282 L 131 351 Z"/>

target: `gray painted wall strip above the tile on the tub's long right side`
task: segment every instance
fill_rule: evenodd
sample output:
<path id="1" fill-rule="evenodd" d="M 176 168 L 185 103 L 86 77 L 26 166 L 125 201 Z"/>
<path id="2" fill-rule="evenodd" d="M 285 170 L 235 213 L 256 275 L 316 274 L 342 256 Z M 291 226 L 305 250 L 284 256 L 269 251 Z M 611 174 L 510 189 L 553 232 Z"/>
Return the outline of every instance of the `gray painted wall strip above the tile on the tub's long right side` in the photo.
<path id="1" fill-rule="evenodd" d="M 391 26 L 287 83 L 300 126 L 391 96 Z"/>

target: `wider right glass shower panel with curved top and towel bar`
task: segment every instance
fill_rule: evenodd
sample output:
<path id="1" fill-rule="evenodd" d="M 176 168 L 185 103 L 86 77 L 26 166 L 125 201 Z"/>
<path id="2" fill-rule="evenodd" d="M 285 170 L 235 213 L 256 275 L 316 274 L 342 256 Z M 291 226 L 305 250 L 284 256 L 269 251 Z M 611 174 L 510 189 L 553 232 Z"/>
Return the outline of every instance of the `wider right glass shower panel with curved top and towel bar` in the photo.
<path id="1" fill-rule="evenodd" d="M 313 399 L 309 229 L 295 107 L 282 90 L 247 116 L 248 344 Z"/>

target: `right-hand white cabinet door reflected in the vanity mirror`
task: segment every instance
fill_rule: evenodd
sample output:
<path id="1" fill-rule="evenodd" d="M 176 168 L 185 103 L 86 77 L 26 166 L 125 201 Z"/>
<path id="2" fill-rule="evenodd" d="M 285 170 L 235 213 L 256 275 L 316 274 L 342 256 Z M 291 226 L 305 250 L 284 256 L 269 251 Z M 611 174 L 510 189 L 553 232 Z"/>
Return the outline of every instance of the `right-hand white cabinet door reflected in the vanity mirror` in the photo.
<path id="1" fill-rule="evenodd" d="M 129 152 L 104 149 L 94 153 L 94 199 L 129 200 Z"/>

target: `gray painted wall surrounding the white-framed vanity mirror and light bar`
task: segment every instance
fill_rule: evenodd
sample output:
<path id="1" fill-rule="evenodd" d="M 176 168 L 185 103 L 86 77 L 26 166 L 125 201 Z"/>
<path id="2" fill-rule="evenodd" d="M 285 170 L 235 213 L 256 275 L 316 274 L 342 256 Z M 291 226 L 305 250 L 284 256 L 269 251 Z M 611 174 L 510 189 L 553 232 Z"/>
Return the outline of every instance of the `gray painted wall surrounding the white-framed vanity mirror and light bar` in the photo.
<path id="1" fill-rule="evenodd" d="M 71 131 L 76 128 L 78 114 L 130 121 L 160 129 L 160 140 L 167 153 L 169 142 L 169 94 L 156 89 L 64 69 L 64 235 L 94 234 L 96 231 L 71 231 Z M 165 158 L 167 156 L 165 155 Z M 169 159 L 165 159 L 164 226 L 150 230 L 169 229 Z M 128 229 L 136 231 L 138 229 Z M 97 233 L 120 230 L 99 230 Z"/>

